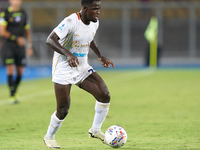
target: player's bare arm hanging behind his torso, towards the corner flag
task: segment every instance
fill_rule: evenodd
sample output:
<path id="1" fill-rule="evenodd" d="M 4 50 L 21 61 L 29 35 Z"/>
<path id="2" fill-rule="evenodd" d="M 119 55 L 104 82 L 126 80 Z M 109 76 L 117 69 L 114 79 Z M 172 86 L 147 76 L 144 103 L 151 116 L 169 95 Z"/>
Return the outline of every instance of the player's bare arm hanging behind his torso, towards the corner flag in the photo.
<path id="1" fill-rule="evenodd" d="M 107 59 L 106 57 L 104 57 L 101 54 L 101 52 L 100 52 L 99 48 L 97 47 L 97 45 L 96 45 L 94 40 L 90 43 L 90 48 L 98 56 L 98 59 L 102 62 L 102 66 L 108 68 L 108 67 L 110 67 L 110 65 L 112 65 L 113 68 L 115 67 L 112 61 L 110 61 L 109 59 Z"/>

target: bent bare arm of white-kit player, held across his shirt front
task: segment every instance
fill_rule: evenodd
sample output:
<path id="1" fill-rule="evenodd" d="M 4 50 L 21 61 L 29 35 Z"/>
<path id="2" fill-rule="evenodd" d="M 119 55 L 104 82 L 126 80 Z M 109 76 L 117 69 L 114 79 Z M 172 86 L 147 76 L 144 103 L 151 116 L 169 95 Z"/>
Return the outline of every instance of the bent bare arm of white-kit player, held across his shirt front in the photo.
<path id="1" fill-rule="evenodd" d="M 79 65 L 78 58 L 73 55 L 70 51 L 65 49 L 58 41 L 59 41 L 58 35 L 53 31 L 48 36 L 46 40 L 46 44 L 51 47 L 54 51 L 58 52 L 61 55 L 65 55 L 67 58 L 67 61 L 71 67 L 77 67 Z"/>

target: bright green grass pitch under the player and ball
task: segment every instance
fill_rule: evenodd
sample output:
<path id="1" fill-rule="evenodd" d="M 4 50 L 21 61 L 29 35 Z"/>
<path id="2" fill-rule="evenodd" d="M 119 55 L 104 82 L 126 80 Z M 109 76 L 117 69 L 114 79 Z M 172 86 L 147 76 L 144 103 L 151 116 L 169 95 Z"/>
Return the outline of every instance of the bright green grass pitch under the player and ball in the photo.
<path id="1" fill-rule="evenodd" d="M 111 93 L 102 131 L 123 126 L 127 143 L 120 149 L 200 149 L 200 71 L 99 72 Z M 45 150 L 43 137 L 56 109 L 51 79 L 23 81 L 21 103 L 9 105 L 8 89 L 0 86 L 0 149 Z M 94 98 L 76 86 L 71 108 L 56 140 L 66 150 L 109 150 L 88 138 L 94 117 Z"/>

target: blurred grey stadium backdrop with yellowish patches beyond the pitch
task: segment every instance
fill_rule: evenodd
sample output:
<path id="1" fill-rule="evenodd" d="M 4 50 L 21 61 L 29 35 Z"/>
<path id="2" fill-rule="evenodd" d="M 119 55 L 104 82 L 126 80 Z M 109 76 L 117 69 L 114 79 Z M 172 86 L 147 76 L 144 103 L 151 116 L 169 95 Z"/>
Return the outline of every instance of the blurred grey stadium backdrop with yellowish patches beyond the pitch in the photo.
<path id="1" fill-rule="evenodd" d="M 7 7 L 0 1 L 0 8 Z M 80 10 L 79 1 L 23 2 L 32 25 L 34 56 L 31 65 L 51 64 L 53 51 L 45 40 L 69 14 Z M 103 54 L 118 64 L 143 65 L 147 41 L 144 31 L 150 17 L 159 20 L 160 64 L 200 64 L 200 2 L 196 1 L 102 1 L 96 41 Z M 91 63 L 98 61 L 90 53 Z"/>

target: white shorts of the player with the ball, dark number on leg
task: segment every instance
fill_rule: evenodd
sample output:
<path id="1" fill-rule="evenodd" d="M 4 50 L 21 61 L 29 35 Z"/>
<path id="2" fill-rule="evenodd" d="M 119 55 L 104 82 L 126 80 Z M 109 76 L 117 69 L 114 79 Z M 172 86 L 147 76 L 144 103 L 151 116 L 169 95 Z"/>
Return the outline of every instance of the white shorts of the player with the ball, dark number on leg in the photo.
<path id="1" fill-rule="evenodd" d="M 95 70 L 88 66 L 88 68 L 78 72 L 76 76 L 68 76 L 68 74 L 54 74 L 52 81 L 58 84 L 67 85 L 67 84 L 81 84 L 89 75 L 91 75 Z"/>

